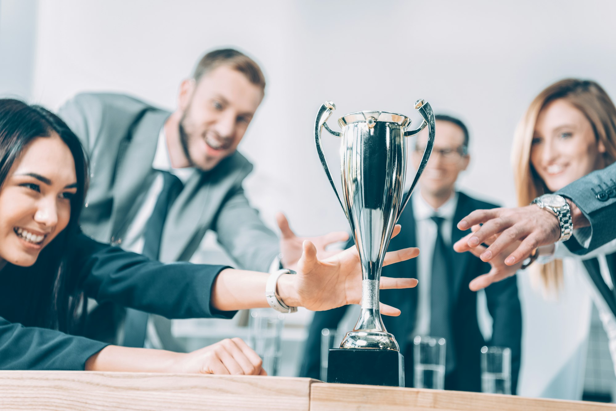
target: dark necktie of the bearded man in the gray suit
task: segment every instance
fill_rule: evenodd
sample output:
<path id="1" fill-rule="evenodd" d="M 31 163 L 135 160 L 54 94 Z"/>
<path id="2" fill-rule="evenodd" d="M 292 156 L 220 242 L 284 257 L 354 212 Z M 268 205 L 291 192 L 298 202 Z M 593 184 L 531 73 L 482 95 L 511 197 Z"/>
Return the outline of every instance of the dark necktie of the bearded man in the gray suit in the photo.
<path id="1" fill-rule="evenodd" d="M 142 254 L 150 260 L 158 260 L 160 254 L 161 237 L 163 236 L 164 220 L 171 208 L 171 204 L 182 191 L 182 182 L 175 175 L 161 171 L 163 175 L 163 190 L 156 200 L 152 215 L 145 224 L 144 250 Z M 126 347 L 143 347 L 147 333 L 148 313 L 137 309 L 126 309 L 124 319 L 124 341 Z"/>

